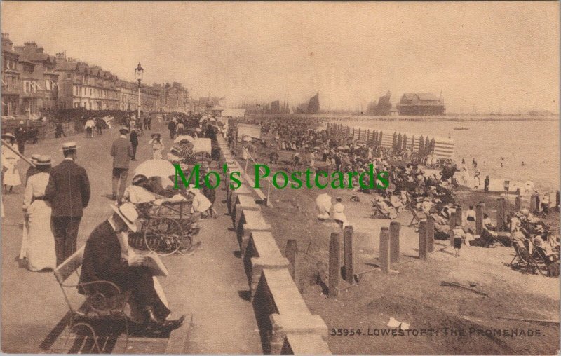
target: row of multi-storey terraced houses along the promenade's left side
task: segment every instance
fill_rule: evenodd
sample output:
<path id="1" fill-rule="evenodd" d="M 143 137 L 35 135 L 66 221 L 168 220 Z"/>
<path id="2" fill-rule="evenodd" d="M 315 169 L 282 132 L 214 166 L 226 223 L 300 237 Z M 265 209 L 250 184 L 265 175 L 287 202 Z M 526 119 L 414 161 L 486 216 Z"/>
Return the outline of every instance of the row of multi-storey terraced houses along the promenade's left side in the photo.
<path id="1" fill-rule="evenodd" d="M 46 110 L 78 107 L 137 110 L 138 83 L 65 52 L 48 55 L 35 42 L 13 46 L 7 33 L 1 40 L 1 116 L 34 118 Z M 189 90 L 180 83 L 140 86 L 142 111 L 187 112 L 189 104 Z"/>

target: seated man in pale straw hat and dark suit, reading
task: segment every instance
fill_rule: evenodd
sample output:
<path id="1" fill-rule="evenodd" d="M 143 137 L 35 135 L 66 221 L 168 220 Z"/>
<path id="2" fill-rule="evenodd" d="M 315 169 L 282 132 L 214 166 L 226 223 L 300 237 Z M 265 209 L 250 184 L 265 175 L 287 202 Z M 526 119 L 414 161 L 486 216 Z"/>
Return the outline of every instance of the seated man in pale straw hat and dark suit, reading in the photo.
<path id="1" fill-rule="evenodd" d="M 154 285 L 153 273 L 144 263 L 147 257 L 129 252 L 128 231 L 137 231 L 138 212 L 135 205 L 111 205 L 111 209 L 111 217 L 99 224 L 86 242 L 81 282 L 107 280 L 123 291 L 130 290 L 130 301 L 135 303 L 135 309 L 144 314 L 144 324 L 166 330 L 177 329 L 184 316 L 177 320 L 170 319 L 171 312 L 163 291 L 158 291 L 158 286 Z M 99 290 L 89 292 L 111 292 L 103 287 L 107 286 L 97 286 Z"/>

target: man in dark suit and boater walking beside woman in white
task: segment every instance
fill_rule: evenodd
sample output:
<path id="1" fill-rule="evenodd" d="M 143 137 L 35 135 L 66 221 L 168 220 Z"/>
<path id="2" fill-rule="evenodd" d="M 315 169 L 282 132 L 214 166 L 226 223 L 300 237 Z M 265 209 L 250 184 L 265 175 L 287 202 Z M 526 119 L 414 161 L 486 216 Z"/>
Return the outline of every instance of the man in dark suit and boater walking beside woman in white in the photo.
<path id="1" fill-rule="evenodd" d="M 90 201 L 90 181 L 86 170 L 74 161 L 76 142 L 62 144 L 65 159 L 50 169 L 45 198 L 53 209 L 53 235 L 57 265 L 76 252 L 76 239 L 83 209 Z"/>

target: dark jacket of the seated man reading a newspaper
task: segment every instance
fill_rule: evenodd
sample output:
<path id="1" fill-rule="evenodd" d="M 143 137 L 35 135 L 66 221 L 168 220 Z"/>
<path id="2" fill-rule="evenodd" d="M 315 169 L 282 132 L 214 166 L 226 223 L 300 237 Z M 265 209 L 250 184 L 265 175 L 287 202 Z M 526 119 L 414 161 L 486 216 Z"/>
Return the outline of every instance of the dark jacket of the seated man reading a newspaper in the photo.
<path id="1" fill-rule="evenodd" d="M 97 225 L 86 241 L 80 282 L 109 280 L 126 289 L 129 273 L 128 262 L 121 258 L 121 245 L 117 240 L 117 233 L 109 221 L 105 220 Z M 95 288 L 95 290 L 109 292 L 111 289 L 106 287 Z M 79 292 L 83 293 L 83 291 Z"/>

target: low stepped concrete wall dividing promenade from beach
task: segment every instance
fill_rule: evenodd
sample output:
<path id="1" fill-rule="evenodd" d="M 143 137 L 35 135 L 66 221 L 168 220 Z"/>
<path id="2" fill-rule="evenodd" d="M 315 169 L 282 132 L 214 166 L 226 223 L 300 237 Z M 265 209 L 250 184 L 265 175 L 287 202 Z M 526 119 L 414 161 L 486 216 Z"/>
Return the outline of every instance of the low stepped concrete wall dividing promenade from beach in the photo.
<path id="1" fill-rule="evenodd" d="M 218 137 L 221 162 L 232 162 L 234 156 L 227 143 Z M 222 163 L 221 163 L 222 164 Z M 224 173 L 224 182 L 227 182 Z M 248 182 L 242 182 L 248 187 Z M 288 259 L 281 254 L 271 226 L 262 217 L 251 189 L 232 191 L 227 187 L 227 205 L 236 230 L 238 244 L 253 310 L 261 334 L 264 353 L 330 354 L 327 325 L 313 315 L 290 276 Z"/>

